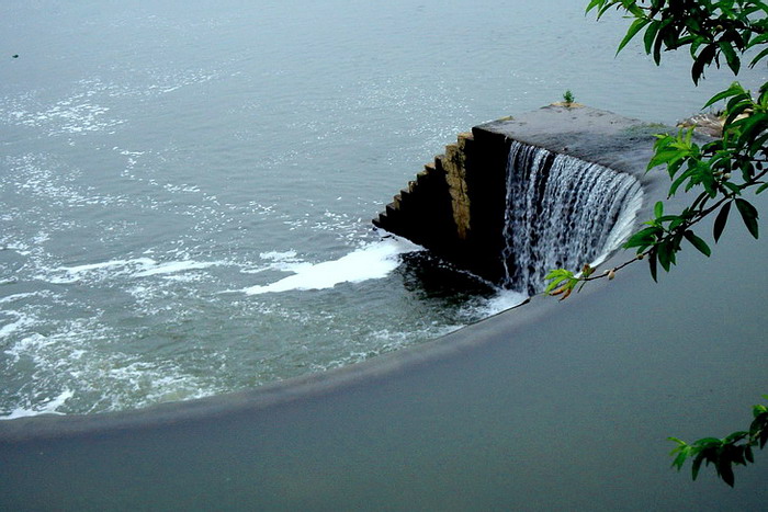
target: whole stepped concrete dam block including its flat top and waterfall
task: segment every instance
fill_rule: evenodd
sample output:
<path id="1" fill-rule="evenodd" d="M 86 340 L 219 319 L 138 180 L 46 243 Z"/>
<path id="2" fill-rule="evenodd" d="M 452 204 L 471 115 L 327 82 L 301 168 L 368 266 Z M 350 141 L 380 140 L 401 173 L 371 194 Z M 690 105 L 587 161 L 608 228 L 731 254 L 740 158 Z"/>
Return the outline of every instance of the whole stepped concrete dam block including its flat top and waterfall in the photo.
<path id="1" fill-rule="evenodd" d="M 641 211 L 658 194 L 645 167 L 660 128 L 556 105 L 482 124 L 426 164 L 373 223 L 533 295 L 549 270 L 600 263 L 646 217 Z"/>

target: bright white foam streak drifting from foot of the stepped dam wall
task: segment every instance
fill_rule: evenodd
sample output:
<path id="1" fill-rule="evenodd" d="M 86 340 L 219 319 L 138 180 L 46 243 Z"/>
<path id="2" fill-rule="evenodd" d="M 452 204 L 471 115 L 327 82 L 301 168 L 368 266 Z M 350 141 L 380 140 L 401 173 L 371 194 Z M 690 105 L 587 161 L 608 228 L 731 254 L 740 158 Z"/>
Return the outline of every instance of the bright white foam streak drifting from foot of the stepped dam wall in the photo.
<path id="1" fill-rule="evenodd" d="M 368 280 L 386 277 L 399 265 L 399 255 L 422 250 L 407 240 L 388 238 L 368 244 L 338 260 L 323 263 L 289 262 L 287 268 L 294 275 L 264 286 L 251 286 L 244 289 L 248 295 L 287 292 L 292 289 L 332 288 L 340 283 L 360 283 Z M 293 257 L 291 257 L 293 258 Z"/>

